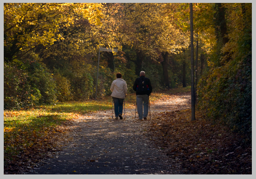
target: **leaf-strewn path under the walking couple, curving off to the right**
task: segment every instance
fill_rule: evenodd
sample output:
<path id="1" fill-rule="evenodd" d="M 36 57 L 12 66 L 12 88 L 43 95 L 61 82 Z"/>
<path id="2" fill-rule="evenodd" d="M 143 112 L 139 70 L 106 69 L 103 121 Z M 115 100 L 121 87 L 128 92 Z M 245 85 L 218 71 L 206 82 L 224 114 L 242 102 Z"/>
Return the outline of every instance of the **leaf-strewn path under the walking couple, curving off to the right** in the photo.
<path id="1" fill-rule="evenodd" d="M 62 150 L 49 152 L 27 174 L 183 174 L 178 160 L 167 158 L 146 137 L 157 113 L 189 108 L 190 92 L 170 95 L 151 104 L 151 120 L 139 120 L 135 106 L 126 107 L 125 119 L 112 118 L 112 110 L 88 113 L 59 134 Z"/>

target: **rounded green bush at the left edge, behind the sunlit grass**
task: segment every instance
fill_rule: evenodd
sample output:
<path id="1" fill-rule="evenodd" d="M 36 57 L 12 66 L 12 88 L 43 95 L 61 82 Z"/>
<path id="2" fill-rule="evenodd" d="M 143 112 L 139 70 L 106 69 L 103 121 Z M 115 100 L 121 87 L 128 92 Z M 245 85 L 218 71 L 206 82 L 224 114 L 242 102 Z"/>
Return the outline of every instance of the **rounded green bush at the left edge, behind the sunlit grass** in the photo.
<path id="1" fill-rule="evenodd" d="M 56 85 L 47 69 L 35 61 L 4 62 L 4 108 L 26 108 L 56 102 Z"/>

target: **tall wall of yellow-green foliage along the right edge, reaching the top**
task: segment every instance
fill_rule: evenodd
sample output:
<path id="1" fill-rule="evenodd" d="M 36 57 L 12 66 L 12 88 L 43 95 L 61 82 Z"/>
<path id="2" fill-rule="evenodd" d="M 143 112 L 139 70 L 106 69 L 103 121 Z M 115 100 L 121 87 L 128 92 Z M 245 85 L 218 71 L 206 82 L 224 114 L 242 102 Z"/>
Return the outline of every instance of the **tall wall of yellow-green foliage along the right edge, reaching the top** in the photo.
<path id="1" fill-rule="evenodd" d="M 208 67 L 198 86 L 199 108 L 209 117 L 227 124 L 251 143 L 252 41 L 251 3 L 223 3 L 225 18 L 215 20 L 218 42 L 208 54 Z M 223 13 L 223 12 L 218 12 Z M 222 22 L 220 22 L 222 21 Z M 225 22 L 225 23 L 224 23 Z M 225 34 L 227 33 L 227 34 Z M 221 37 L 222 36 L 222 37 Z M 226 40 L 223 40 L 226 38 Z M 223 41 L 222 41 L 223 40 Z M 225 42 L 225 43 L 224 43 Z"/>

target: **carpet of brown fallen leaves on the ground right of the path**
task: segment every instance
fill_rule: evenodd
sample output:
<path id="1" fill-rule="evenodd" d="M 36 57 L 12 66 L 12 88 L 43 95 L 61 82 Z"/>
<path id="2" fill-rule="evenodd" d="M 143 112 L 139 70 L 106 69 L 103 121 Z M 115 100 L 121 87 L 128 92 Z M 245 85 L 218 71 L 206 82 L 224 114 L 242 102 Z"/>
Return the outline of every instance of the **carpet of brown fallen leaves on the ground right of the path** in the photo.
<path id="1" fill-rule="evenodd" d="M 195 121 L 190 109 L 158 113 L 148 131 L 155 145 L 181 164 L 184 174 L 252 173 L 251 145 L 200 112 Z"/>

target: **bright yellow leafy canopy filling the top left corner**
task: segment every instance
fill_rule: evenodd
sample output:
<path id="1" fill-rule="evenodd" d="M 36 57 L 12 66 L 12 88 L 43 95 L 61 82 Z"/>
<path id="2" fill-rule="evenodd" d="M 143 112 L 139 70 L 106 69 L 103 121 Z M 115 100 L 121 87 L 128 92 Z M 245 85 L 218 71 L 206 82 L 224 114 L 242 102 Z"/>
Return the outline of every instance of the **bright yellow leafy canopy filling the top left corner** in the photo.
<path id="1" fill-rule="evenodd" d="M 33 54 L 40 45 L 48 49 L 64 40 L 60 28 L 71 26 L 78 18 L 100 25 L 100 8 L 101 4 L 95 3 L 5 3 L 5 61 Z"/>

